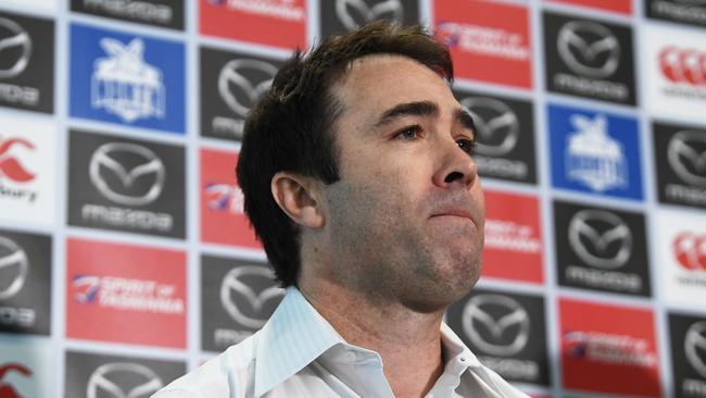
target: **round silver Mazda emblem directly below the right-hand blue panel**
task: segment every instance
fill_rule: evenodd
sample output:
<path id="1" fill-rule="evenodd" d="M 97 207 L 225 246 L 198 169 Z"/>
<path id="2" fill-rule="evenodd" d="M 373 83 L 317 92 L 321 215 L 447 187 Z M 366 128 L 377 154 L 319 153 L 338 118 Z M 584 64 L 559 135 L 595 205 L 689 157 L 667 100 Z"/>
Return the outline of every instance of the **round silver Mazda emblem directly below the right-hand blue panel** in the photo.
<path id="1" fill-rule="evenodd" d="M 630 227 L 608 211 L 579 211 L 569 223 L 568 235 L 573 251 L 591 266 L 617 269 L 632 253 Z"/>

